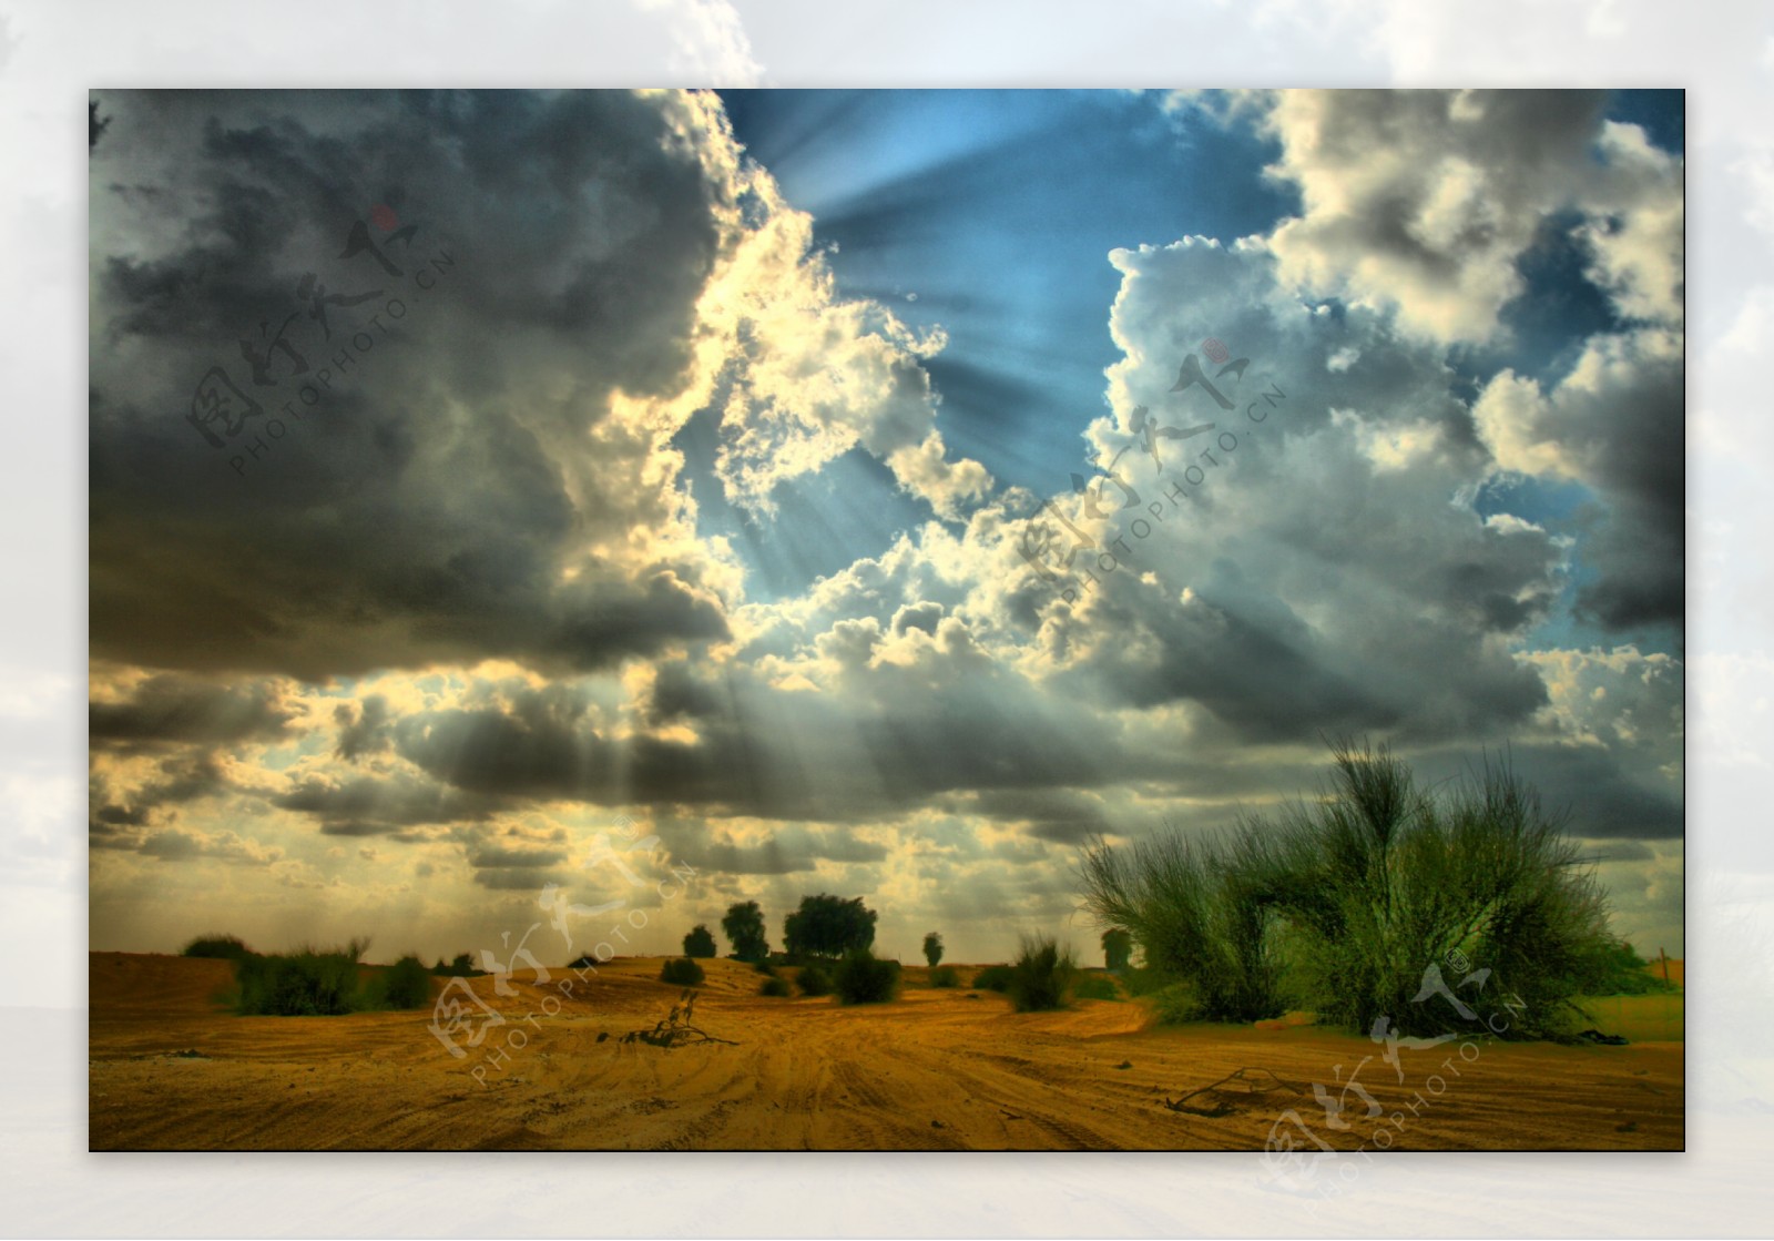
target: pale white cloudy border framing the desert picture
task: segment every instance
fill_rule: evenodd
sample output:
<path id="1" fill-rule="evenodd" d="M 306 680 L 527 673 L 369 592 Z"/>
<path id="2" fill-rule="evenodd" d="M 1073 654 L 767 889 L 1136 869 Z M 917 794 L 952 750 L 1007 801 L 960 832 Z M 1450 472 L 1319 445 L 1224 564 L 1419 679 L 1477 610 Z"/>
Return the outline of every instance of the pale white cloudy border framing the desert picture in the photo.
<path id="1" fill-rule="evenodd" d="M 80 138 L 89 87 L 156 85 L 1687 87 L 1689 1152 L 1387 1158 L 1316 1213 L 1258 1156 L 85 1154 Z M 1767 1234 L 1770 117 L 1774 7 L 1744 2 L 0 5 L 0 1230 Z"/>

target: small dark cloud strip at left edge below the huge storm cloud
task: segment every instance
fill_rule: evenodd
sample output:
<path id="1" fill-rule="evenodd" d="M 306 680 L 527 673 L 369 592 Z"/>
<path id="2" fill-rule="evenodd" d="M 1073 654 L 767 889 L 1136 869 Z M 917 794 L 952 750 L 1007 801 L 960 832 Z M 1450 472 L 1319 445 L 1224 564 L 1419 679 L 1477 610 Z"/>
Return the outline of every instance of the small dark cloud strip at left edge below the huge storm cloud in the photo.
<path id="1" fill-rule="evenodd" d="M 254 682 L 215 685 L 176 675 L 151 676 L 122 701 L 87 707 L 87 730 L 96 744 L 138 747 L 199 742 L 227 746 L 284 735 L 298 710 L 277 685 Z"/>

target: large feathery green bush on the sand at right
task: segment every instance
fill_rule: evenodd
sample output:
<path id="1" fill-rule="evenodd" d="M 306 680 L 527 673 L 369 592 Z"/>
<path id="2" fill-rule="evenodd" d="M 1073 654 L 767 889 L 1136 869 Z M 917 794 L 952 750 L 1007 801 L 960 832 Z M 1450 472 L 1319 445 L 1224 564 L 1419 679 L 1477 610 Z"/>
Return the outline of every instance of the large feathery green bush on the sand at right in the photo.
<path id="1" fill-rule="evenodd" d="M 1455 1016 L 1419 1003 L 1432 968 L 1467 1003 L 1485 985 L 1520 1000 L 1517 1037 L 1559 1033 L 1575 996 L 1643 976 L 1621 966 L 1575 842 L 1506 765 L 1425 792 L 1384 747 L 1332 753 L 1329 795 L 1229 836 L 1087 845 L 1084 902 L 1111 929 L 1111 962 L 1137 943 L 1196 1019 L 1299 1007 L 1401 1035 L 1440 1035 Z"/>

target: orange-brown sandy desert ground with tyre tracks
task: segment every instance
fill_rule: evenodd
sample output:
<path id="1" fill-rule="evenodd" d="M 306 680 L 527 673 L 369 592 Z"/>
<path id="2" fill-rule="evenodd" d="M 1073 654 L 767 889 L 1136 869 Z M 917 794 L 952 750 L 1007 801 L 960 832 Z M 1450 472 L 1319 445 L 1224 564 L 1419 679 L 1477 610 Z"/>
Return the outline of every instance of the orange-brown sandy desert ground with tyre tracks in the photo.
<path id="1" fill-rule="evenodd" d="M 992 992 L 931 991 L 922 969 L 907 971 L 898 1003 L 844 1008 L 766 1000 L 749 968 L 704 964 L 695 1024 L 736 1046 L 621 1042 L 679 989 L 655 980 L 658 960 L 619 959 L 566 1000 L 566 971 L 513 980 L 509 998 L 472 980 L 506 1021 L 458 1060 L 429 1012 L 238 1017 L 215 1000 L 225 962 L 90 953 L 89 1145 L 1261 1150 L 1293 1110 L 1348 1152 L 1684 1147 L 1680 1042 L 1488 1040 L 1465 1058 L 1446 1044 L 1403 1051 L 1400 1081 L 1380 1046 L 1313 1026 L 1155 1028 L 1144 1005 L 1112 1001 L 1015 1014 Z M 1339 1065 L 1382 1108 L 1368 1118 L 1346 1094 L 1348 1131 L 1327 1126 L 1313 1095 L 1313 1083 L 1339 1094 Z M 1231 1083 L 1190 1104 L 1222 1115 L 1166 1106 L 1240 1069 L 1260 1090 Z"/>

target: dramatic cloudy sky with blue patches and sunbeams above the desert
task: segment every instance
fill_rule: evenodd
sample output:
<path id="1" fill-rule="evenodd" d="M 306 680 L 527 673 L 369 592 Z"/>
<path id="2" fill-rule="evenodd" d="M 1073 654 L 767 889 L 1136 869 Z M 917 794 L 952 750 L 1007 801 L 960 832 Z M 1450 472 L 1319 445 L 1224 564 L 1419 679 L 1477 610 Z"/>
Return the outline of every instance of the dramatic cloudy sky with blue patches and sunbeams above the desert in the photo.
<path id="1" fill-rule="evenodd" d="M 1095 959 L 1368 737 L 1682 955 L 1682 92 L 94 99 L 94 950 Z"/>

